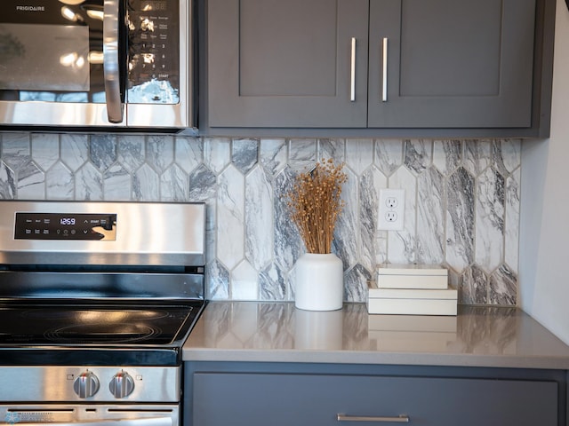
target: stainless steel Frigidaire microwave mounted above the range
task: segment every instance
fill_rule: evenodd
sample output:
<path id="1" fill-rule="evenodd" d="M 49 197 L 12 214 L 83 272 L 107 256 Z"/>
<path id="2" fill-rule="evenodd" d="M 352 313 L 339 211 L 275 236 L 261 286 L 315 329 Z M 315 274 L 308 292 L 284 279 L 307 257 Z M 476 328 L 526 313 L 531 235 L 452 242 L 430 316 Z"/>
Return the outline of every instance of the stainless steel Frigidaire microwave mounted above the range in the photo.
<path id="1" fill-rule="evenodd" d="M 193 127 L 191 0 L 2 0 L 0 130 Z"/>

